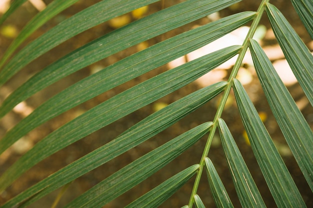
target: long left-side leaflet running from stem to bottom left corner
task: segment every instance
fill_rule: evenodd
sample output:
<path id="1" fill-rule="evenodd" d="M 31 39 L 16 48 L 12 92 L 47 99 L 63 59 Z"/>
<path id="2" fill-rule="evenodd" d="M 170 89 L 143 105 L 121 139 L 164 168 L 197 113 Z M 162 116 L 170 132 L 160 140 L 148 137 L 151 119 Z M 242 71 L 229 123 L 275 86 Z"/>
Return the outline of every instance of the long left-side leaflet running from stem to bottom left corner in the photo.
<path id="1" fill-rule="evenodd" d="M 23 206 L 19 206 L 19 208 L 26 207 L 55 189 L 137 146 L 205 104 L 222 92 L 226 84 L 227 82 L 213 84 L 169 104 L 132 126 L 131 131 L 127 130 L 118 138 L 42 180 L 10 200 L 2 208 L 14 207 L 29 198 L 27 202 L 23 203 Z"/>

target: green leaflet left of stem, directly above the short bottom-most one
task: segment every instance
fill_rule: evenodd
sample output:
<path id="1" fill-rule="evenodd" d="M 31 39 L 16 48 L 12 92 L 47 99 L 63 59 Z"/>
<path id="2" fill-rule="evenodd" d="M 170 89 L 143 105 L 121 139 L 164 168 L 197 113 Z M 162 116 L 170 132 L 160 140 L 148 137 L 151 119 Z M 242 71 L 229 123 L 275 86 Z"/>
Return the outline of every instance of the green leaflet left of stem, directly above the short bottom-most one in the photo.
<path id="1" fill-rule="evenodd" d="M 147 153 L 80 195 L 65 208 L 101 208 L 191 147 L 208 132 L 209 126 L 207 123 L 199 125 Z"/>

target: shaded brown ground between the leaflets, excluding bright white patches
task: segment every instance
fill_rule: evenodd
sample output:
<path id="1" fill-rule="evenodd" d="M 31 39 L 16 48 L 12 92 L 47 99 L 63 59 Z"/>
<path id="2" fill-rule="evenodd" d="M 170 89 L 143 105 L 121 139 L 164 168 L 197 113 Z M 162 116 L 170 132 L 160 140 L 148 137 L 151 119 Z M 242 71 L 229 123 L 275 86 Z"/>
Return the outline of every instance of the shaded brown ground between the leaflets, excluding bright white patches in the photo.
<path id="1" fill-rule="evenodd" d="M 50 0 L 46 0 L 46 3 L 50 2 Z M 77 11 L 82 10 L 88 5 L 97 2 L 97 0 L 84 0 L 78 1 L 70 8 L 64 10 L 58 16 L 54 17 L 42 27 L 40 27 L 34 34 L 32 34 L 26 42 L 29 42 L 39 35 L 43 34 L 45 31 L 53 27 L 59 22 L 59 19 L 67 18 L 72 14 L 76 13 Z M 168 7 L 175 3 L 178 3 L 179 0 L 167 0 L 165 2 L 165 6 Z M 220 16 L 226 16 L 238 11 L 244 10 L 256 10 L 260 0 L 256 1 L 248 1 L 244 0 L 239 4 L 237 9 L 229 9 L 226 8 L 220 11 Z M 294 11 L 291 3 L 289 0 L 272 0 L 272 4 L 274 4 L 278 9 L 285 15 L 288 19 L 290 24 L 294 26 L 294 29 L 303 39 L 303 41 L 307 44 L 310 50 L 313 49 L 312 42 L 307 34 L 306 30 L 304 29 L 302 23 L 300 22 L 296 12 Z M 153 3 L 149 7 L 149 12 L 155 12 L 161 9 L 161 2 Z M 29 4 L 25 4 L 23 7 L 18 9 L 4 24 L 12 24 L 14 25 L 18 31 L 25 25 L 25 23 L 30 20 L 30 18 L 36 13 L 37 11 Z M 161 41 L 164 38 L 168 38 L 174 36 L 182 31 L 189 30 L 194 25 L 201 25 L 207 23 L 207 18 L 202 18 L 197 20 L 196 22 L 192 22 L 187 24 L 183 27 L 177 28 L 175 30 L 169 31 L 164 35 L 155 37 L 153 39 L 148 40 L 148 44 L 152 45 Z M 269 22 L 267 20 L 266 14 L 264 13 L 262 18 L 262 24 L 266 26 L 267 29 L 270 28 Z M 21 72 L 17 73 L 9 82 L 5 84 L 4 87 L 0 89 L 0 102 L 13 91 L 16 87 L 18 87 L 21 83 L 23 83 L 28 77 L 33 75 L 35 72 L 41 70 L 43 67 L 47 66 L 48 64 L 52 63 L 53 61 L 57 60 L 61 56 L 67 54 L 68 52 L 72 51 L 73 49 L 78 48 L 79 46 L 112 31 L 107 23 L 102 23 L 97 25 L 75 37 L 71 38 L 70 40 L 60 44 L 59 46 L 55 47 L 54 49 L 50 50 L 48 53 L 44 54 L 43 56 L 39 57 L 35 61 L 28 64 Z M 0 56 L 3 54 L 5 49 L 8 47 L 11 39 L 0 35 Z M 22 46 L 24 46 L 24 43 Z M 277 45 L 277 42 L 272 38 L 270 30 L 266 33 L 265 38 L 262 41 L 263 46 L 274 48 Z M 26 100 L 27 106 L 31 108 L 36 108 L 45 100 L 50 98 L 51 96 L 55 95 L 56 93 L 60 92 L 67 86 L 77 82 L 78 80 L 88 76 L 90 74 L 90 70 L 93 67 L 98 65 L 100 66 L 108 66 L 119 59 L 132 54 L 137 51 L 137 48 L 130 47 L 127 50 L 124 50 L 120 53 L 114 54 L 108 58 L 105 58 L 91 66 L 81 69 L 80 71 L 67 76 L 66 78 L 56 82 L 55 84 L 51 85 L 50 87 L 42 90 L 39 93 L 36 93 L 34 96 Z M 107 93 L 101 94 L 95 97 L 92 100 L 89 100 L 63 114 L 57 116 L 56 118 L 52 119 L 51 121 L 41 125 L 37 129 L 31 131 L 27 136 L 26 140 L 30 141 L 31 144 L 36 143 L 44 136 L 52 132 L 53 130 L 57 129 L 61 125 L 65 124 L 66 122 L 70 121 L 76 115 L 84 112 L 91 107 L 105 101 L 109 97 L 129 88 L 130 86 L 135 85 L 143 80 L 146 80 L 155 74 L 163 72 L 167 70 L 166 66 L 160 67 L 152 72 L 149 72 L 143 76 L 135 78 L 122 86 L 116 87 L 110 90 Z M 259 82 L 256 78 L 255 74 L 253 75 L 253 81 L 248 85 L 245 85 L 245 88 L 251 97 L 252 101 L 255 104 L 255 107 L 258 111 L 265 112 L 267 114 L 267 119 L 264 122 L 266 128 L 268 129 L 271 137 L 275 140 L 275 142 L 286 145 L 283 139 L 283 136 L 270 112 L 269 106 L 266 102 L 266 99 L 262 93 L 261 87 Z M 176 92 L 160 99 L 160 102 L 171 103 L 184 95 L 187 95 L 197 89 L 200 86 L 196 83 L 191 83 Z M 291 95 L 294 97 L 295 101 L 299 101 L 297 103 L 306 103 L 305 96 L 303 95 L 302 90 L 298 86 L 298 84 L 293 84 L 288 86 L 288 90 L 290 91 Z M 74 183 L 72 183 L 68 190 L 63 195 L 58 207 L 63 207 L 72 199 L 78 197 L 80 194 L 94 186 L 95 184 L 99 183 L 101 180 L 105 179 L 106 177 L 110 176 L 115 171 L 119 170 L 120 168 L 124 167 L 125 165 L 129 164 L 130 162 L 134 161 L 138 157 L 144 155 L 145 153 L 151 151 L 152 149 L 160 146 L 161 144 L 169 141 L 170 139 L 180 135 L 181 133 L 195 127 L 206 121 L 211 121 L 215 115 L 216 105 L 218 104 L 219 97 L 213 99 L 209 103 L 205 104 L 203 107 L 195 111 L 194 113 L 186 116 L 180 122 L 174 124 L 172 127 L 166 129 L 165 131 L 161 132 L 157 136 L 151 138 L 147 142 L 133 148 L 132 150 L 126 152 L 125 154 L 119 156 L 118 158 L 102 165 L 101 167 L 95 169 L 94 171 L 76 179 Z M 303 101 L 304 99 L 304 101 Z M 39 180 L 47 177 L 51 173 L 59 170 L 60 168 L 66 166 L 70 162 L 82 157 L 83 155 L 89 153 L 90 151 L 104 145 L 108 141 L 111 141 L 124 130 L 135 124 L 136 122 L 140 121 L 141 119 L 145 118 L 146 116 L 150 115 L 153 112 L 153 105 L 148 105 L 134 113 L 114 122 L 113 124 L 104 127 L 91 135 L 81 139 L 80 141 L 64 148 L 62 151 L 59 151 L 52 155 L 51 157 L 45 159 L 44 161 L 40 162 L 38 165 L 30 169 L 26 172 L 20 179 L 18 179 L 12 186 L 10 186 L 4 193 L 0 195 L 0 205 L 6 202 L 8 199 L 12 198 L 16 194 L 20 193 L 22 190 L 30 187 L 31 185 L 35 184 Z M 309 125 L 312 127 L 313 125 L 313 111 L 312 107 L 309 104 L 304 104 L 301 106 L 301 111 L 306 118 Z M 2 137 L 6 130 L 11 128 L 15 125 L 19 120 L 22 119 L 22 115 L 16 112 L 10 112 L 4 118 L 0 120 L 0 137 Z M 251 175 L 259 188 L 259 191 L 263 197 L 263 200 L 267 207 L 274 208 L 276 207 L 268 188 L 265 186 L 265 181 L 262 178 L 260 170 L 257 166 L 256 160 L 254 159 L 253 153 L 251 152 L 250 147 L 244 142 L 242 137 L 243 127 L 241 122 L 239 122 L 239 114 L 236 110 L 235 102 L 233 101 L 229 107 L 227 107 L 222 115 L 222 118 L 225 120 L 227 125 L 230 128 L 230 131 L 235 138 L 237 145 L 241 151 L 241 154 L 251 172 Z M 128 203 L 132 202 L 134 199 L 138 198 L 139 196 L 143 195 L 150 189 L 154 188 L 161 182 L 165 181 L 169 177 L 173 176 L 174 174 L 178 173 L 179 171 L 189 167 L 190 165 L 196 164 L 199 162 L 202 150 L 204 148 L 206 142 L 206 138 L 202 138 L 198 143 L 196 143 L 193 147 L 191 147 L 188 151 L 183 153 L 173 162 L 168 164 L 164 169 L 158 171 L 156 174 L 151 176 L 148 180 L 144 181 L 143 183 L 139 184 L 138 186 L 134 187 L 130 191 L 126 192 L 124 195 L 118 197 L 116 200 L 113 200 L 108 205 L 104 206 L 105 208 L 121 208 L 126 206 Z M 20 153 L 18 153 L 14 148 L 10 148 L 0 157 L 0 174 L 2 174 L 14 161 L 16 161 L 20 157 Z M 232 185 L 231 176 L 228 171 L 228 167 L 222 152 L 222 148 L 218 143 L 218 135 L 216 135 L 216 142 L 212 144 L 212 147 L 209 152 L 209 158 L 212 160 L 217 172 L 220 174 L 222 182 L 226 187 L 228 194 L 232 200 L 232 203 L 235 207 L 240 207 L 239 201 L 236 198 L 236 193 L 234 187 Z M 301 195 L 307 207 L 313 207 L 313 200 L 312 200 L 312 193 L 306 184 L 304 177 L 301 174 L 296 162 L 292 156 L 285 155 L 283 156 L 283 160 L 294 179 Z M 175 193 L 169 200 L 167 200 L 161 207 L 168 208 L 168 207 L 182 207 L 186 205 L 189 200 L 189 196 L 191 193 L 192 185 L 194 182 L 194 178 L 192 178 L 189 183 L 183 186 L 177 193 Z M 57 196 L 59 190 L 51 193 L 50 195 L 46 196 L 45 198 L 39 200 L 38 202 L 34 203 L 30 206 L 30 208 L 48 208 L 52 205 L 55 197 Z M 205 174 L 203 175 L 200 186 L 198 188 L 198 195 L 201 197 L 202 201 L 204 202 L 206 207 L 214 207 L 214 202 L 209 192 L 209 187 L 207 185 L 207 180 Z"/>

